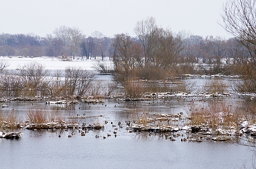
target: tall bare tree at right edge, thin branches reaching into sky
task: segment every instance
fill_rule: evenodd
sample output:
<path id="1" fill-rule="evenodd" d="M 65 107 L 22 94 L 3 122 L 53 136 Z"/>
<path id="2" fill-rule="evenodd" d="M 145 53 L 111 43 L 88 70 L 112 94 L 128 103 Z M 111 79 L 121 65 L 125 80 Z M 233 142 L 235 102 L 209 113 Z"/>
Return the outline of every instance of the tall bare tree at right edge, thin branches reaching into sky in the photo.
<path id="1" fill-rule="evenodd" d="M 238 83 L 239 90 L 256 92 L 256 0 L 227 0 L 222 15 L 224 29 L 233 34 L 239 42 L 247 48 L 250 57 L 238 61 L 237 72 L 243 75 L 242 83 Z M 249 103 L 246 110 L 250 119 L 255 121 L 256 101 L 246 99 Z M 253 147 L 256 152 L 255 139 L 245 139 L 244 145 Z M 255 154 L 256 155 L 256 154 Z M 255 168 L 255 166 L 254 166 Z"/>

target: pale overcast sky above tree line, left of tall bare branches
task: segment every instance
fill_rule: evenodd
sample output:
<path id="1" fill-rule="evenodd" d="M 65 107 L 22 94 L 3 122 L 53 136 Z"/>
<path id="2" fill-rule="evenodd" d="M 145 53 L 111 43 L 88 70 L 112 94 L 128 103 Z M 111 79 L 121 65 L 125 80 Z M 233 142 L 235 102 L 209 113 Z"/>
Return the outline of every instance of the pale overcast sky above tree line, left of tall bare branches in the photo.
<path id="1" fill-rule="evenodd" d="M 61 25 L 87 36 L 100 31 L 135 36 L 135 24 L 154 17 L 163 28 L 194 35 L 232 37 L 218 24 L 225 0 L 0 0 L 0 33 L 41 37 Z"/>

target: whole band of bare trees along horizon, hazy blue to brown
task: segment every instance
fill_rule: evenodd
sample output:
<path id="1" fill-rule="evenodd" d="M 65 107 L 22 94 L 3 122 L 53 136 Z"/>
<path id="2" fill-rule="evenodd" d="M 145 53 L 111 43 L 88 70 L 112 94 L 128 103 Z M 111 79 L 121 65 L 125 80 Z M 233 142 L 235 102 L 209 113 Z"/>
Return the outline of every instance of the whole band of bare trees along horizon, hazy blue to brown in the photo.
<path id="1" fill-rule="evenodd" d="M 136 37 L 124 33 L 106 37 L 99 31 L 86 36 L 77 27 L 60 26 L 46 37 L 33 33 L 1 33 L 0 56 L 50 56 L 64 61 L 101 57 L 113 60 L 116 68 L 120 63 L 122 67 L 130 66 L 123 65 L 126 63 L 131 67 L 150 66 L 158 70 L 178 64 L 179 69 L 175 71 L 183 73 L 194 72 L 193 64 L 207 64 L 207 73 L 228 73 L 227 65 L 250 56 L 236 38 L 174 33 L 159 27 L 152 17 L 138 22 L 134 32 Z M 206 71 L 203 66 L 198 69 Z"/>

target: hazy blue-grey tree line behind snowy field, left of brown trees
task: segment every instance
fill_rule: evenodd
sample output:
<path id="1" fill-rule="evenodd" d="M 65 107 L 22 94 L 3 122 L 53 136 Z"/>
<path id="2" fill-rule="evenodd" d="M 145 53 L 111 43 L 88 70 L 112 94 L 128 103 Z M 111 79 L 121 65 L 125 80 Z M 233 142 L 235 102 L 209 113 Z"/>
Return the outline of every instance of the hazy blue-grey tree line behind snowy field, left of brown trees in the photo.
<path id="1" fill-rule="evenodd" d="M 86 37 L 79 28 L 60 26 L 45 37 L 28 34 L 0 34 L 0 56 L 65 58 L 110 57 L 111 38 L 95 31 Z"/>

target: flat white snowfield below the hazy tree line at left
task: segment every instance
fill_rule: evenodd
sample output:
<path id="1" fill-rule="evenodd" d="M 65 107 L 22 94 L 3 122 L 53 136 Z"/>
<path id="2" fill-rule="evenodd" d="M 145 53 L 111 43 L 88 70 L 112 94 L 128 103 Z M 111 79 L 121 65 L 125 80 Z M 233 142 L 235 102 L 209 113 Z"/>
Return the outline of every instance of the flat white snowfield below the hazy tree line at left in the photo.
<path id="1" fill-rule="evenodd" d="M 30 63 L 31 61 L 36 61 L 43 66 L 45 66 L 46 70 L 64 70 L 68 66 L 77 66 L 77 67 L 82 67 L 83 69 L 86 70 L 95 70 L 94 65 L 96 62 L 100 61 L 100 58 L 97 59 L 72 59 L 72 61 L 61 61 L 58 58 L 52 58 L 52 57 L 0 57 L 0 60 L 5 60 L 10 64 L 10 66 L 7 69 L 17 69 L 19 66 L 23 66 L 25 64 Z M 112 61 L 109 61 L 106 59 L 104 61 L 108 67 L 112 65 Z"/>

